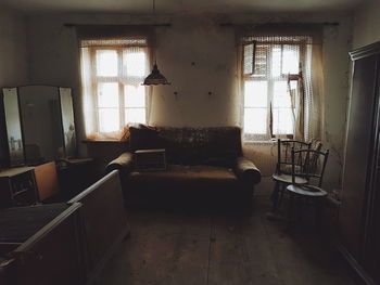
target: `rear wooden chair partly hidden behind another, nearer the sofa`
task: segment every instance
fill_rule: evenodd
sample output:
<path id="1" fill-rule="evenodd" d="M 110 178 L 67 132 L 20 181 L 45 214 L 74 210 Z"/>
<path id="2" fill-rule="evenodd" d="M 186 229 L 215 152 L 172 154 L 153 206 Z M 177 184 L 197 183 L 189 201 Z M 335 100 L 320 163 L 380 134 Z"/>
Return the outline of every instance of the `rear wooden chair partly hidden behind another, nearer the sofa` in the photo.
<path id="1" fill-rule="evenodd" d="M 277 141 L 277 166 L 276 172 L 273 174 L 275 189 L 271 194 L 273 212 L 276 212 L 279 203 L 282 200 L 286 186 L 292 183 L 292 150 L 309 150 L 311 143 L 296 140 L 280 140 Z M 295 169 L 300 170 L 304 167 L 305 157 L 300 153 L 294 157 Z M 294 177 L 297 184 L 306 184 L 307 179 L 301 174 Z"/>

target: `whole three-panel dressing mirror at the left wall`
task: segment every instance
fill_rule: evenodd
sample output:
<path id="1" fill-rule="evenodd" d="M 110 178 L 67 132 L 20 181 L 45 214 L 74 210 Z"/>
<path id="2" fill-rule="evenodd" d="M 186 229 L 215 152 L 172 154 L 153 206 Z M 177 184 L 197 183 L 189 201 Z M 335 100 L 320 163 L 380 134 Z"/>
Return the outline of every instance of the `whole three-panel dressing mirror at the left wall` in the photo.
<path id="1" fill-rule="evenodd" d="M 71 88 L 24 86 L 3 93 L 11 166 L 75 157 Z"/>

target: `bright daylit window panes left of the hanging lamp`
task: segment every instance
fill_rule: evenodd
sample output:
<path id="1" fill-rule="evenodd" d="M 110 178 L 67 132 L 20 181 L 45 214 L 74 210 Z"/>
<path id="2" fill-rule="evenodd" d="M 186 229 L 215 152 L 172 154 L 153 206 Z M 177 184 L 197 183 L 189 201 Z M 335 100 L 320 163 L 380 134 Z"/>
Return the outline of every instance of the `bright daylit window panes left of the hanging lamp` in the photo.
<path id="1" fill-rule="evenodd" d="M 81 41 L 87 132 L 110 133 L 147 121 L 145 38 Z M 92 113 L 93 116 L 90 116 Z"/>

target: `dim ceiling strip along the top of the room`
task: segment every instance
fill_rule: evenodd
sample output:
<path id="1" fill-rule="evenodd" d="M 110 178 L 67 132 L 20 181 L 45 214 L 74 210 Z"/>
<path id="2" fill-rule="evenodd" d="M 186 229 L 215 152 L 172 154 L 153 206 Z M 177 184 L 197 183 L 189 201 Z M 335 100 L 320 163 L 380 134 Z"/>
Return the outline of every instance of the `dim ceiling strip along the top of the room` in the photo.
<path id="1" fill-rule="evenodd" d="M 25 13 L 151 13 L 153 0 L 0 0 Z M 347 11 L 367 0 L 155 0 L 156 13 Z"/>

